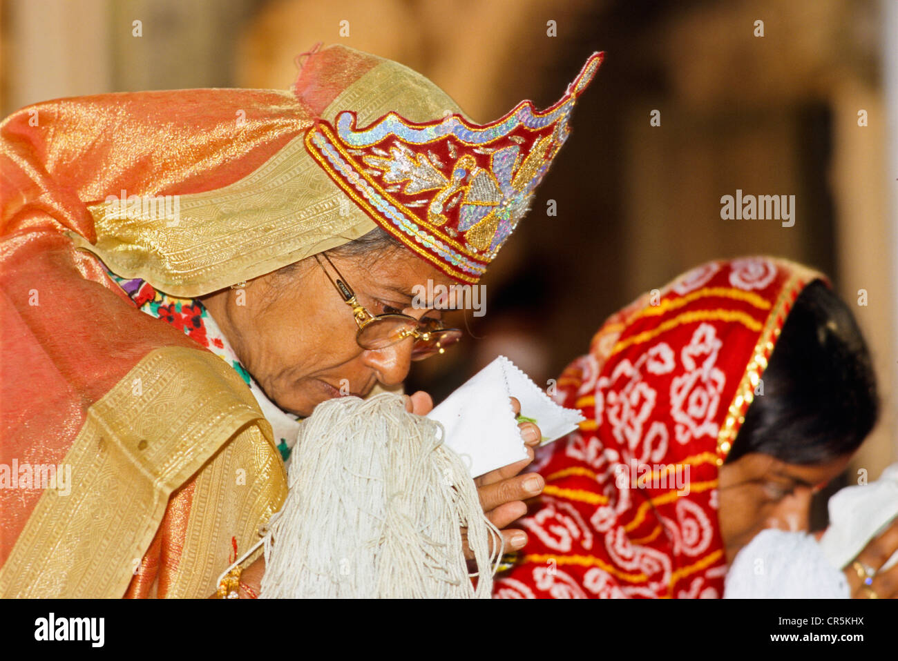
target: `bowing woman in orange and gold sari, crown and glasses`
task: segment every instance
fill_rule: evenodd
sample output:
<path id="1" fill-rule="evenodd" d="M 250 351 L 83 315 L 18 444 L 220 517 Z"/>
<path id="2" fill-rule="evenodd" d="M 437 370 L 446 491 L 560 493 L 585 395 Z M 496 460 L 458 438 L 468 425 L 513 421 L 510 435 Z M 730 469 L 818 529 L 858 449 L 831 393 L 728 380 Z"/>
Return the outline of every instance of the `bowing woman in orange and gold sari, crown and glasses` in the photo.
<path id="1" fill-rule="evenodd" d="M 285 498 L 297 420 L 458 339 L 412 287 L 477 283 L 601 61 L 480 126 L 404 66 L 306 55 L 289 92 L 55 100 L 0 126 L 0 596 L 215 593 Z M 522 467 L 480 480 L 499 527 L 541 487 Z"/>

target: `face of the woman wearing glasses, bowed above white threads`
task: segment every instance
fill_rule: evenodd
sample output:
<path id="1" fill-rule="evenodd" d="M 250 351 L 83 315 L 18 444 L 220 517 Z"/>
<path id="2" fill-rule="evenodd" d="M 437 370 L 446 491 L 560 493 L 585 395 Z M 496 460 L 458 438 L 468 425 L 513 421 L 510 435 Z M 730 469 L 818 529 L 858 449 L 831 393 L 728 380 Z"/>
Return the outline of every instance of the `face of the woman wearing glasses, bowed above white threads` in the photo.
<path id="1" fill-rule="evenodd" d="M 331 259 L 374 315 L 401 311 L 440 318 L 438 310 L 412 308 L 412 287 L 426 287 L 428 278 L 435 285 L 453 283 L 403 249 Z M 286 411 L 309 415 L 317 404 L 339 396 L 341 387 L 344 394 L 365 396 L 376 383 L 395 386 L 409 373 L 411 338 L 386 349 L 362 349 L 352 309 L 314 258 L 286 274 L 247 283 L 243 305 L 239 296 L 239 291 L 219 291 L 204 302 L 243 366 Z"/>

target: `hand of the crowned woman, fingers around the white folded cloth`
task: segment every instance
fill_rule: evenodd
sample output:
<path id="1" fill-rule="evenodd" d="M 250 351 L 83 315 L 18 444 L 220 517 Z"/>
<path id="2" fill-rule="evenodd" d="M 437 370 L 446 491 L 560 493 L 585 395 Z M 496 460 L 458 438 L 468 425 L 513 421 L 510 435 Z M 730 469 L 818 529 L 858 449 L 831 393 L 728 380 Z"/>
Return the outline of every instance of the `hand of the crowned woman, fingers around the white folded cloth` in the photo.
<path id="1" fill-rule="evenodd" d="M 515 415 L 521 413 L 521 403 L 515 397 L 511 398 L 511 404 Z M 406 410 L 417 415 L 427 415 L 433 407 L 433 400 L 427 393 L 421 391 L 409 396 L 405 403 Z M 474 480 L 480 495 L 480 506 L 487 518 L 502 532 L 506 551 L 517 551 L 527 544 L 527 534 L 523 530 L 515 528 L 506 530 L 504 528 L 526 514 L 527 506 L 524 504 L 524 500 L 540 495 L 542 487 L 545 485 L 540 474 L 519 475 L 533 461 L 533 450 L 539 446 L 542 439 L 540 428 L 533 422 L 521 422 L 518 427 L 521 430 L 524 445 L 527 446 L 527 458 L 480 475 Z M 467 529 L 465 528 L 462 528 L 462 539 L 464 556 L 468 560 L 472 560 L 474 554 L 468 547 Z"/>

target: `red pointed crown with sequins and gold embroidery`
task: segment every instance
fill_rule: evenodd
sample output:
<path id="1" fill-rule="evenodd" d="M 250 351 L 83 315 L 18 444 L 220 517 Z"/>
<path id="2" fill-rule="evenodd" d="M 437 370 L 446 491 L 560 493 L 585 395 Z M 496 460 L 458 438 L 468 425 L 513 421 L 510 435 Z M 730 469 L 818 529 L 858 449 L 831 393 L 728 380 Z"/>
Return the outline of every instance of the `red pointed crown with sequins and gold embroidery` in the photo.
<path id="1" fill-rule="evenodd" d="M 525 100 L 482 126 L 458 114 L 416 124 L 389 112 L 359 128 L 348 110 L 334 125 L 318 120 L 306 149 L 383 230 L 454 279 L 476 283 L 529 209 L 602 60 L 589 57 L 543 111 Z"/>

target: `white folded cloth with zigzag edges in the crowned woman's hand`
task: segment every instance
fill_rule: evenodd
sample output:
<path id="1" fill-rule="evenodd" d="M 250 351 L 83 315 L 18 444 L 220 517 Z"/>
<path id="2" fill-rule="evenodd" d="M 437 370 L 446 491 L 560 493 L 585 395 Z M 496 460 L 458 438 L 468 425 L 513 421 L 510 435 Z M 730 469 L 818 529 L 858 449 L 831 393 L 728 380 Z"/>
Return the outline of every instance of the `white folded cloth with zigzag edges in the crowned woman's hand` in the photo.
<path id="1" fill-rule="evenodd" d="M 468 379 L 427 417 L 442 422 L 445 444 L 462 457 L 477 477 L 527 457 L 510 397 L 521 402 L 521 414 L 533 418 L 542 445 L 577 429 L 579 411 L 555 404 L 515 363 L 499 356 Z"/>

